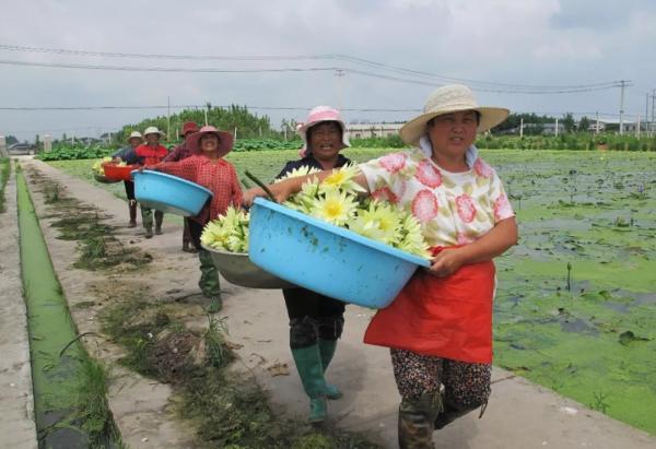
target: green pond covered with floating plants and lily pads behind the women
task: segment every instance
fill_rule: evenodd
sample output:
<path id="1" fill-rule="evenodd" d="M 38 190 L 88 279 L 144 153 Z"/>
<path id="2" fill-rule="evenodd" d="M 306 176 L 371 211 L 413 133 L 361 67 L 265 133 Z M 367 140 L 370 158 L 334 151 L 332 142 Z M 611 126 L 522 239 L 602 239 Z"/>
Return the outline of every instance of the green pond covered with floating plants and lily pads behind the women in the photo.
<path id="1" fill-rule="evenodd" d="M 361 162 L 386 152 L 344 153 Z M 656 153 L 482 154 L 520 227 L 519 245 L 497 260 L 495 364 L 656 434 Z M 296 157 L 227 158 L 270 180 Z M 51 165 L 92 181 L 91 163 Z"/>

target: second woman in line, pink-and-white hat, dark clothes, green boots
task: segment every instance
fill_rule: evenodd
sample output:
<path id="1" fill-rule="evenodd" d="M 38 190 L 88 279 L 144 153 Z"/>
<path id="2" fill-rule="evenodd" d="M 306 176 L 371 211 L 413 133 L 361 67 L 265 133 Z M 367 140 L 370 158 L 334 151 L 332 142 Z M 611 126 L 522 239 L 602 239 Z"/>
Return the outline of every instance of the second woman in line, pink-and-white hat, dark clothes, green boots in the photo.
<path id="1" fill-rule="evenodd" d="M 302 158 L 288 162 L 277 178 L 302 167 L 339 168 L 351 161 L 340 151 L 351 146 L 339 111 L 317 106 L 296 131 L 303 139 Z M 326 418 L 326 399 L 340 399 L 341 391 L 326 383 L 325 373 L 337 350 L 344 323 L 344 303 L 306 288 L 282 291 L 290 317 L 290 346 L 305 393 L 309 397 L 309 421 Z"/>

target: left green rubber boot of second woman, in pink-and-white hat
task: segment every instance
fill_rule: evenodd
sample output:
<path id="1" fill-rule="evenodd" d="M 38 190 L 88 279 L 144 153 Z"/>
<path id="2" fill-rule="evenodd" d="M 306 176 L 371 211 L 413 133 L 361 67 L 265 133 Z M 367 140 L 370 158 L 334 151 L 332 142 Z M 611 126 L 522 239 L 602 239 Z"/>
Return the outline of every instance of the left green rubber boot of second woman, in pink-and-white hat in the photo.
<path id="1" fill-rule="evenodd" d="M 303 383 L 305 394 L 309 397 L 311 423 L 321 423 L 328 414 L 326 405 L 326 380 L 324 379 L 324 367 L 321 365 L 321 353 L 319 345 L 292 350 L 292 356 Z"/>

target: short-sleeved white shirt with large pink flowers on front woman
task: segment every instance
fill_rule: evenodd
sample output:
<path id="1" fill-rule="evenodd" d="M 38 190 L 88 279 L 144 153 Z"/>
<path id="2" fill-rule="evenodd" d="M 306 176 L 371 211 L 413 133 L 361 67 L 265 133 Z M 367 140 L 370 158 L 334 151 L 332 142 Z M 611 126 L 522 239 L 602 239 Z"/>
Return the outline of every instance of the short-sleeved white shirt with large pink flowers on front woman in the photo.
<path id="1" fill-rule="evenodd" d="M 412 211 L 431 246 L 471 243 L 514 216 L 501 179 L 481 157 L 468 172 L 452 173 L 413 149 L 359 167 L 374 198 Z"/>

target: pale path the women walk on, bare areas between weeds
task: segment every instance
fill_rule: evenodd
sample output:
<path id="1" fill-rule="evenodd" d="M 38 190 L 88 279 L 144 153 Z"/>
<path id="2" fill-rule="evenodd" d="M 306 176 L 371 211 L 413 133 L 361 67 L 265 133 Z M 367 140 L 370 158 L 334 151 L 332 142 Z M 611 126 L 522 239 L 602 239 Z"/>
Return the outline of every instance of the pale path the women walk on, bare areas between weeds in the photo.
<path id="1" fill-rule="evenodd" d="M 112 215 L 108 223 L 119 226 L 117 237 L 128 246 L 149 252 L 153 262 L 140 274 L 125 273 L 110 279 L 87 271 L 71 269 L 75 259 L 75 244 L 58 240 L 42 222 L 50 245 L 55 268 L 80 331 L 97 331 L 96 314 L 103 303 L 120 295 L 119 286 L 147 288 L 149 293 L 169 300 L 194 298 L 197 293 L 197 261 L 180 247 L 179 226 L 167 225 L 163 236 L 151 240 L 140 237 L 139 231 L 125 227 L 127 205 L 104 190 L 71 178 L 37 161 L 26 167 L 42 173 L 61 185 L 79 200 L 95 204 L 102 213 Z M 35 196 L 38 198 L 38 196 Z M 47 210 L 43 198 L 35 198 L 39 216 Z M 237 353 L 270 391 L 274 410 L 281 414 L 306 413 L 307 400 L 302 392 L 288 347 L 289 328 L 282 295 L 278 291 L 255 291 L 222 283 L 224 308 L 231 342 L 241 345 Z M 78 302 L 98 304 L 75 308 Z M 200 302 L 200 299 L 198 300 Z M 194 300 L 187 321 L 199 328 L 207 320 Z M 349 306 L 345 330 L 338 346 L 328 378 L 344 391 L 344 398 L 330 402 L 329 415 L 339 426 L 353 430 L 368 430 L 385 447 L 396 447 L 396 412 L 399 397 L 394 383 L 388 352 L 366 346 L 362 335 L 372 312 Z M 103 343 L 99 355 L 113 359 L 120 354 L 116 347 Z M 277 368 L 286 365 L 289 375 L 273 376 Z M 126 442 L 133 448 L 186 447 L 190 440 L 188 426 L 173 420 L 168 407 L 168 387 L 131 374 L 115 380 L 110 405 Z M 437 447 L 448 448 L 653 448 L 656 438 L 612 421 L 582 404 L 536 387 L 507 371 L 495 369 L 490 405 L 483 420 L 470 414 L 441 433 L 435 434 Z M 148 439 L 148 440 L 144 440 Z M 155 441 L 157 441 L 155 444 Z"/>

